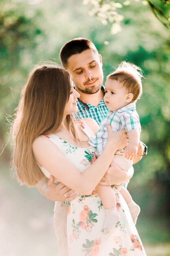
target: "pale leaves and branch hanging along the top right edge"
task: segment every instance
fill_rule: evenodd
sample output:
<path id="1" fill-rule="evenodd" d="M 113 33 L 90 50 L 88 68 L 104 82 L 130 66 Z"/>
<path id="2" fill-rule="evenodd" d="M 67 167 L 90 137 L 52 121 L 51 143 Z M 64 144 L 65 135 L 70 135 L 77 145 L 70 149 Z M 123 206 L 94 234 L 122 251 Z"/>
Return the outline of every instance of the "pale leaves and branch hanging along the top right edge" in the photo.
<path id="1" fill-rule="evenodd" d="M 111 34 L 115 35 L 121 31 L 121 22 L 124 15 L 121 8 L 133 5 L 134 1 L 139 0 L 83 0 L 83 3 L 90 5 L 89 15 L 97 17 L 103 25 L 112 24 Z M 149 5 L 150 11 L 168 29 L 170 29 L 170 0 L 143 0 L 144 5 Z M 167 8 L 168 7 L 168 8 Z"/>

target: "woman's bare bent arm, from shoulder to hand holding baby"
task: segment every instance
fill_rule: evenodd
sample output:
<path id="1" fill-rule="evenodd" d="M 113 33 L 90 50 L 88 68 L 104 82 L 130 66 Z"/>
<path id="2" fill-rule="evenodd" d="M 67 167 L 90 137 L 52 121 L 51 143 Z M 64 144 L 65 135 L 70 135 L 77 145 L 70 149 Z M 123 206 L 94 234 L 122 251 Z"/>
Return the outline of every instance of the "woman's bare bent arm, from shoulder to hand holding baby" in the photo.
<path id="1" fill-rule="evenodd" d="M 109 126 L 108 142 L 102 154 L 82 173 L 62 155 L 55 144 L 45 137 L 35 139 L 33 153 L 36 161 L 54 177 L 78 193 L 88 195 L 107 171 L 116 150 L 122 148 L 122 144 L 126 144 L 126 135 L 124 135 L 124 143 L 119 138 L 122 135 L 122 131 L 111 132 Z"/>

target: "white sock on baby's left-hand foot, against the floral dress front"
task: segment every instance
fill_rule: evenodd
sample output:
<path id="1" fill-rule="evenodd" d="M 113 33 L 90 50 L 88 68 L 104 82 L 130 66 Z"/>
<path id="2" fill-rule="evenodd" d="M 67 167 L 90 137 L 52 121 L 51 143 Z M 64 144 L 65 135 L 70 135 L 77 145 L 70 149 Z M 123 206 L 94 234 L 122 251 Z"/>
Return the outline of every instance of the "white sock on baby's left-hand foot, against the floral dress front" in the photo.
<path id="1" fill-rule="evenodd" d="M 104 234 L 108 234 L 115 224 L 120 220 L 116 207 L 105 209 L 106 219 L 104 222 Z"/>

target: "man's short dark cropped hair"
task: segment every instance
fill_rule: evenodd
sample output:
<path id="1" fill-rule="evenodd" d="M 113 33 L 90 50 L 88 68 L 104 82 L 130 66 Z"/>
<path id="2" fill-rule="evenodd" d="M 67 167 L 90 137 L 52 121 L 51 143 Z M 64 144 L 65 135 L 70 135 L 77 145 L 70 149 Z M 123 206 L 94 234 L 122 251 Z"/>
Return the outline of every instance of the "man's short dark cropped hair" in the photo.
<path id="1" fill-rule="evenodd" d="M 65 43 L 60 50 L 60 61 L 63 67 L 67 67 L 68 58 L 70 58 L 72 55 L 82 53 L 88 49 L 92 49 L 94 52 L 97 51 L 95 45 L 86 38 L 74 38 Z"/>

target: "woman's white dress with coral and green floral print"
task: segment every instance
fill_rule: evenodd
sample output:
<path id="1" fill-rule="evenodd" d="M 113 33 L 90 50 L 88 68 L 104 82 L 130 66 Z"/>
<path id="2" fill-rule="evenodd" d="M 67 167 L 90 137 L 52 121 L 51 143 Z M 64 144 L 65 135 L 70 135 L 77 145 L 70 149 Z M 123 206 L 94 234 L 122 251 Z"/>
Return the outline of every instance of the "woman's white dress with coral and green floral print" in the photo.
<path id="1" fill-rule="evenodd" d="M 82 119 L 77 120 L 77 124 L 88 137 L 93 135 Z M 81 172 L 97 159 L 96 148 L 93 146 L 77 148 L 56 135 L 45 136 L 53 141 Z M 42 171 L 49 176 L 46 170 Z M 146 256 L 124 198 L 117 189 L 113 188 L 113 191 L 116 195 L 120 221 L 107 235 L 103 234 L 104 207 L 95 190 L 90 196 L 78 195 L 71 201 L 67 215 L 69 256 Z"/>

